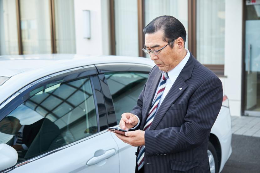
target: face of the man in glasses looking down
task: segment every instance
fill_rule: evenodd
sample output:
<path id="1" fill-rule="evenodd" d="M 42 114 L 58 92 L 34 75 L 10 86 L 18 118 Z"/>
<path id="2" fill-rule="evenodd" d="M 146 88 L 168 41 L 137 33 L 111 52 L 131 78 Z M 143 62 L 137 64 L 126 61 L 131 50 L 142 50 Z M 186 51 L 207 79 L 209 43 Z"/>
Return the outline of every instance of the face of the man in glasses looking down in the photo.
<path id="1" fill-rule="evenodd" d="M 159 50 L 163 48 L 168 42 L 163 41 L 163 31 L 156 33 L 145 34 L 145 47 L 148 50 Z M 171 41 L 171 40 L 170 40 Z M 167 45 L 164 49 L 159 52 L 159 55 L 150 54 L 153 62 L 159 67 L 160 70 L 168 72 L 172 70 L 178 62 L 178 43 L 177 40 L 173 41 L 174 47 L 171 48 Z"/>

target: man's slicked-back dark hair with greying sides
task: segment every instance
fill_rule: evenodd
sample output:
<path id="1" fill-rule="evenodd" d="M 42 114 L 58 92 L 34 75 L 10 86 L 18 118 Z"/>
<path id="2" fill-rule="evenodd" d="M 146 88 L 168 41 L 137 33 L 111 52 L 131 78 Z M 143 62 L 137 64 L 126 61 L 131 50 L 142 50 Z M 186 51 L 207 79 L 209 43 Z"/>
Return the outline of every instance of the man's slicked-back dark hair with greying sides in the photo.
<path id="1" fill-rule="evenodd" d="M 165 42 L 169 43 L 179 37 L 184 40 L 184 43 L 186 41 L 186 31 L 183 24 L 173 16 L 159 16 L 143 28 L 145 34 L 157 31 L 164 32 L 163 41 Z M 170 43 L 169 46 L 173 48 L 173 43 Z"/>

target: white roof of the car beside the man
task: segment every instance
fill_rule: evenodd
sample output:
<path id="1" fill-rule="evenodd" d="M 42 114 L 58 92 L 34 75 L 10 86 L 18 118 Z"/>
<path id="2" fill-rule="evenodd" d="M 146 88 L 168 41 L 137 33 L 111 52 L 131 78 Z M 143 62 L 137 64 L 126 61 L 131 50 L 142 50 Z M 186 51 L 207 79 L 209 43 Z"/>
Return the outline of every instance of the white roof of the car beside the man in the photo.
<path id="1" fill-rule="evenodd" d="M 78 54 L 42 54 L 0 56 L 0 76 L 10 77 L 0 86 L 0 104 L 37 79 L 68 69 L 94 64 L 135 63 L 155 65 L 152 60 L 127 56 L 88 56 Z"/>

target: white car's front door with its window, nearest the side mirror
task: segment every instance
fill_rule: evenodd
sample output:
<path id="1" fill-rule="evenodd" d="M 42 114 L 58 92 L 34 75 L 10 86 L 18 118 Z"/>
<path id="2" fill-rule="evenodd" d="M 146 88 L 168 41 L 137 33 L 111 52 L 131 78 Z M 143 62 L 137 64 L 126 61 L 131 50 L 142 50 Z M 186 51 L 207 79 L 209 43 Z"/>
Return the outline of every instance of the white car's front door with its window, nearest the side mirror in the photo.
<path id="1" fill-rule="evenodd" d="M 12 173 L 119 173 L 118 146 L 107 127 L 93 65 L 39 79 L 0 107 L 0 142 L 22 146 Z"/>

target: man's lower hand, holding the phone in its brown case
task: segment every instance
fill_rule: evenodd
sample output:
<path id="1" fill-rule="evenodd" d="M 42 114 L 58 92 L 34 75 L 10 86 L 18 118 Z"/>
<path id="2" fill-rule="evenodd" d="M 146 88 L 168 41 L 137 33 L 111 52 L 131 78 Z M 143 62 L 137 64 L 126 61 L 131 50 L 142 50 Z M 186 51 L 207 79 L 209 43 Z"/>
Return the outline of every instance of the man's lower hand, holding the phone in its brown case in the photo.
<path id="1" fill-rule="evenodd" d="M 130 132 L 125 132 L 125 135 L 116 134 L 116 136 L 123 142 L 130 144 L 134 147 L 145 145 L 143 130 L 135 130 Z"/>

